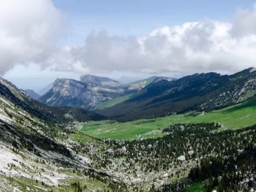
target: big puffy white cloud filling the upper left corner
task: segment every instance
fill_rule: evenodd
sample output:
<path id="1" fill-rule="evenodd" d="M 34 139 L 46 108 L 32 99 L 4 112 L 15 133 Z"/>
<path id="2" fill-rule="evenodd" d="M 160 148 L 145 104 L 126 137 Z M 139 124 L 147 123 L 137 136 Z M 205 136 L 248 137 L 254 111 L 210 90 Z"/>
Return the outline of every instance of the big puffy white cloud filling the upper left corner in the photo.
<path id="1" fill-rule="evenodd" d="M 55 52 L 64 15 L 51 0 L 0 1 L 0 75 L 15 64 L 44 62 Z"/>

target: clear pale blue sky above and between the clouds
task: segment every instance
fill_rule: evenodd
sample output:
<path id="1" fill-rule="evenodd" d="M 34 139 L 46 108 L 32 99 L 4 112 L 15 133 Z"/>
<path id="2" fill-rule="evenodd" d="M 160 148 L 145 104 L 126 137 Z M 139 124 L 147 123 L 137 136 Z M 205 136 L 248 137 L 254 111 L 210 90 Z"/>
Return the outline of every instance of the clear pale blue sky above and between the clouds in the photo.
<path id="1" fill-rule="evenodd" d="M 63 44 L 83 44 L 92 30 L 111 35 L 145 35 L 162 26 L 205 18 L 229 21 L 236 9 L 248 9 L 254 0 L 54 0 L 67 14 L 70 35 Z"/>

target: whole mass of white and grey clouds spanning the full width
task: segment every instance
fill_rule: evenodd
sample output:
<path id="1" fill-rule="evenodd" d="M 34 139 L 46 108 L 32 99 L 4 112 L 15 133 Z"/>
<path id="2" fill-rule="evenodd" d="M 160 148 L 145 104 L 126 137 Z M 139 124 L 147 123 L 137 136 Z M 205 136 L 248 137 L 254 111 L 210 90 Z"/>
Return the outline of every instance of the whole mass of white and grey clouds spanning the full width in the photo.
<path id="1" fill-rule="evenodd" d="M 233 73 L 255 66 L 255 5 L 251 10 L 237 10 L 230 23 L 208 19 L 164 26 L 142 37 L 92 32 L 84 46 L 57 48 L 55 39 L 63 29 L 63 18 L 50 0 L 1 1 L 0 74 L 28 62 L 81 74 Z"/>

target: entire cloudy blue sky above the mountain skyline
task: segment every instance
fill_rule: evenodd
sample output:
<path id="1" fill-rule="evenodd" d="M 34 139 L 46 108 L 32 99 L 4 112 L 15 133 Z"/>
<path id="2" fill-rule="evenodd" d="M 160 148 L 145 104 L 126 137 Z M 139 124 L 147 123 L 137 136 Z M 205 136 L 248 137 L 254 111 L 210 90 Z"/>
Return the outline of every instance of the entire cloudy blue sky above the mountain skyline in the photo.
<path id="1" fill-rule="evenodd" d="M 254 0 L 1 0 L 0 76 L 180 77 L 255 66 Z"/>

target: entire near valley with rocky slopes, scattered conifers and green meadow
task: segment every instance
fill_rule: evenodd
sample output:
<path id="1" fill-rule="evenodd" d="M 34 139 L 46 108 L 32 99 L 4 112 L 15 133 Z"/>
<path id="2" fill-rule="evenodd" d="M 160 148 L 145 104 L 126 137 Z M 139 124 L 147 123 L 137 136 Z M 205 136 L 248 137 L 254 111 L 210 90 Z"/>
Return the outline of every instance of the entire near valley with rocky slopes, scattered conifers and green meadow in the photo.
<path id="1" fill-rule="evenodd" d="M 247 98 L 251 95 L 248 93 Z M 6 192 L 250 191 L 256 179 L 256 126 L 241 127 L 255 123 L 255 102 L 250 99 L 204 115 L 194 112 L 169 119 L 142 119 L 131 127 L 119 129 L 116 125 L 124 124 L 96 121 L 100 116 L 95 113 L 90 113 L 94 121 L 86 123 L 79 117 L 79 111 L 75 113 L 78 109 L 39 105 L 23 90 L 2 79 L 1 189 Z M 69 113 L 64 113 L 64 109 L 69 109 Z M 90 120 L 87 115 L 84 121 Z M 202 123 L 209 121 L 215 122 Z M 84 131 L 90 134 L 97 131 L 95 135 L 99 138 L 114 133 L 116 139 L 122 140 L 90 137 L 78 131 L 81 125 L 86 125 Z M 149 129 L 153 131 L 148 132 Z M 123 140 L 136 131 L 141 136 Z M 239 174 L 234 176 L 235 172 Z"/>

